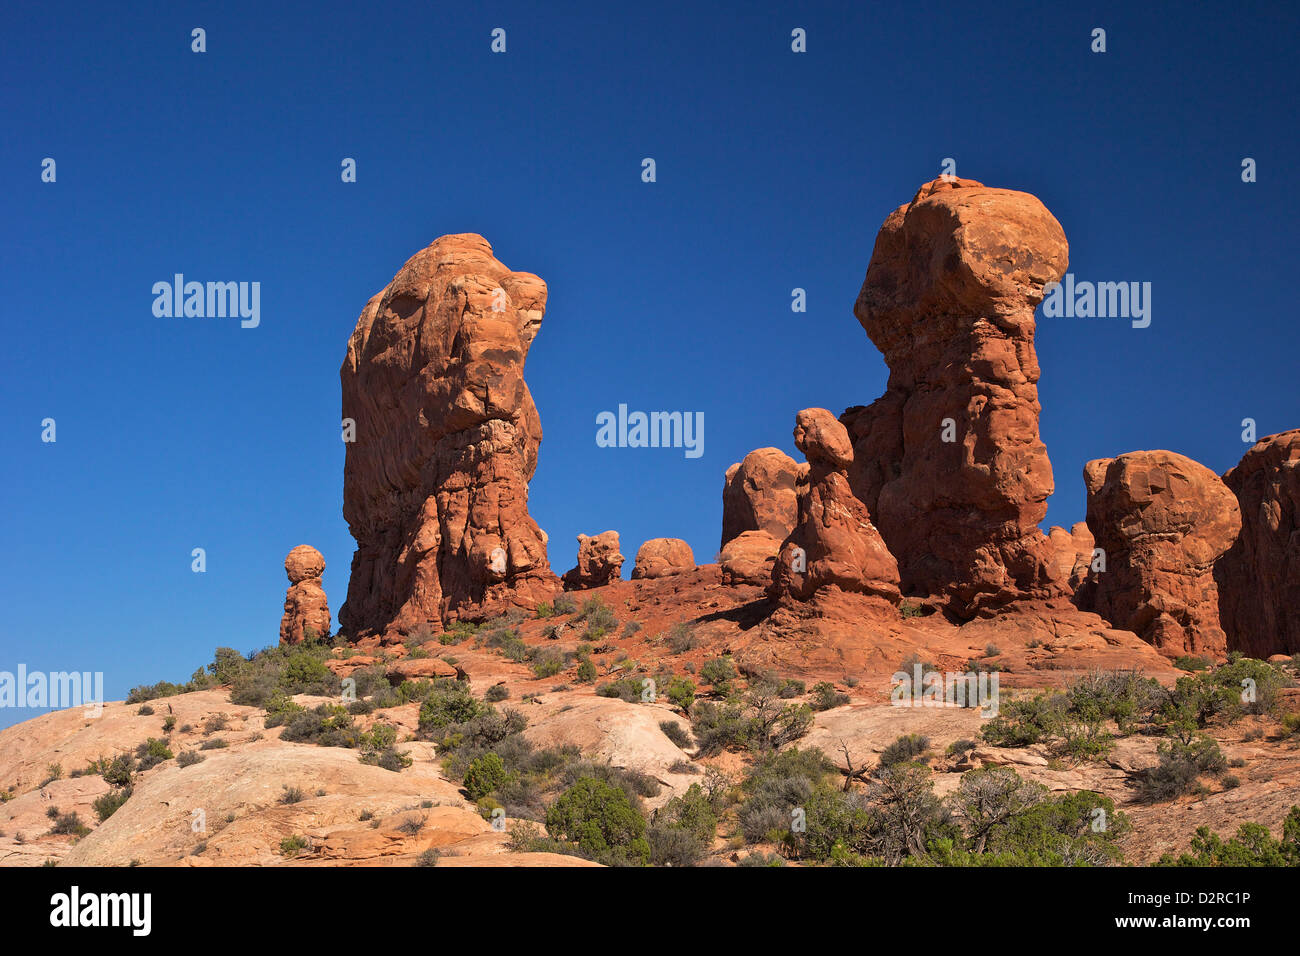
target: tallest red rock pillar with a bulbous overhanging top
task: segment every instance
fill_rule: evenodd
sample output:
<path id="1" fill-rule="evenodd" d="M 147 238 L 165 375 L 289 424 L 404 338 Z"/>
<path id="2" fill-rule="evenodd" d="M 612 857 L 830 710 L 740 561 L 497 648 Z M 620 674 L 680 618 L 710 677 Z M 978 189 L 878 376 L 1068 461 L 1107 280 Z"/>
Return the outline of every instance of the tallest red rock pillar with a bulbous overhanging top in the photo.
<path id="1" fill-rule="evenodd" d="M 1061 593 L 1037 527 L 1053 481 L 1034 308 L 1067 258 L 1034 196 L 936 179 L 885 220 L 854 306 L 889 386 L 841 416 L 849 484 L 904 589 L 946 594 L 962 617 Z"/>

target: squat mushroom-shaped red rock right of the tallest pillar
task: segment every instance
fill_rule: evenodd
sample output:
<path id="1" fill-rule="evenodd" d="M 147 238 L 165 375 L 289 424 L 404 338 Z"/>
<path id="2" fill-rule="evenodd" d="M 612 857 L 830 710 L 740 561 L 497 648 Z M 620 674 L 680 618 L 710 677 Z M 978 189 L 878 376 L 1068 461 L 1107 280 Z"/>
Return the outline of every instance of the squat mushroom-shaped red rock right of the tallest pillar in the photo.
<path id="1" fill-rule="evenodd" d="M 1088 462 L 1088 528 L 1105 553 L 1079 602 L 1161 653 L 1223 657 L 1214 562 L 1242 528 L 1219 476 L 1173 451 Z"/>

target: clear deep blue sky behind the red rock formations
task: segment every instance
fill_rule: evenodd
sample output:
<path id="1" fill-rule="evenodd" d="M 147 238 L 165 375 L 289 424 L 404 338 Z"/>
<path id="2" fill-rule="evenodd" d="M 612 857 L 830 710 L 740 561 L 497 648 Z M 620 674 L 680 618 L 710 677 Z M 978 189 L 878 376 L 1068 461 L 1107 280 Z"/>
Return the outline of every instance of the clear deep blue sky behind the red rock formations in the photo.
<path id="1" fill-rule="evenodd" d="M 949 156 L 1040 196 L 1079 278 L 1153 284 L 1148 329 L 1040 324 L 1049 523 L 1082 520 L 1088 459 L 1223 471 L 1243 418 L 1300 425 L 1294 4 L 611 7 L 6 5 L 0 670 L 103 670 L 118 698 L 270 644 L 303 542 L 337 618 L 338 367 L 445 233 L 550 286 L 526 378 L 558 572 L 606 528 L 629 566 L 656 536 L 711 559 L 728 464 L 884 390 L 853 302 L 881 221 Z M 260 281 L 260 328 L 156 319 L 176 272 Z M 620 402 L 705 412 L 705 454 L 597 447 Z"/>

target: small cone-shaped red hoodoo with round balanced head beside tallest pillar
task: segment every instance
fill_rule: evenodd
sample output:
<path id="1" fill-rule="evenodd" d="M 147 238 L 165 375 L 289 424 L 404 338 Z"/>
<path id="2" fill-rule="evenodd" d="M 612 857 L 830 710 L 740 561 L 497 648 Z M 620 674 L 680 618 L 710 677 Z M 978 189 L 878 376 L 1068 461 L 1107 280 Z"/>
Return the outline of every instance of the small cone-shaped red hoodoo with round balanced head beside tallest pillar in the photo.
<path id="1" fill-rule="evenodd" d="M 805 408 L 796 416 L 794 445 L 809 468 L 798 486 L 798 523 L 772 570 L 772 597 L 807 601 L 833 587 L 897 605 L 898 564 L 849 488 L 849 433 L 826 408 Z"/>

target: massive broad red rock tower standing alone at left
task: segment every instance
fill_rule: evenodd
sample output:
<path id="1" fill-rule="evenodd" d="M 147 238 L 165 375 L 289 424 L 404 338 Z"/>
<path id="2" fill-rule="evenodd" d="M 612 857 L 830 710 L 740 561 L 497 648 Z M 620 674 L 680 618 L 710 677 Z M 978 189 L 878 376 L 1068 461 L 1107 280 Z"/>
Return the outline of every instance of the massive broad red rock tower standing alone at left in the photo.
<path id="1" fill-rule="evenodd" d="M 545 310 L 546 284 L 473 234 L 416 252 L 365 304 L 339 373 L 348 635 L 439 630 L 559 589 L 528 514 L 542 427 L 524 359 Z"/>

